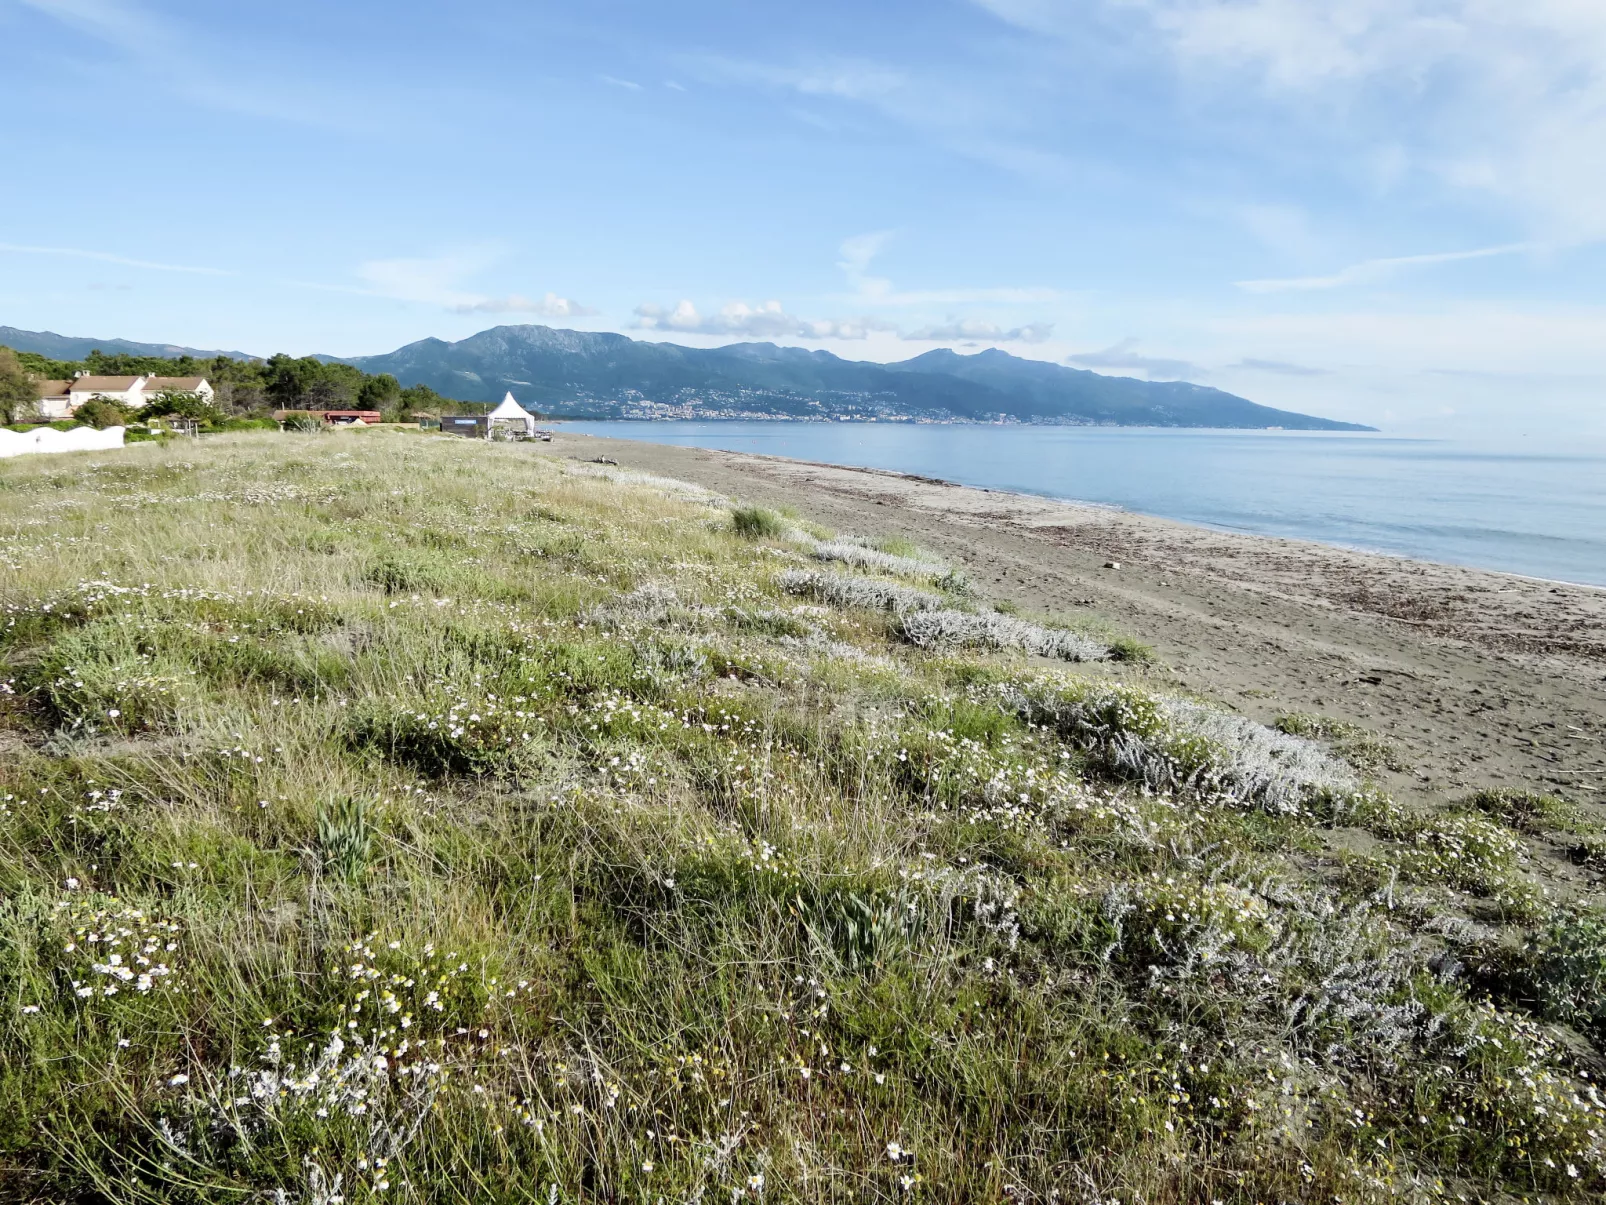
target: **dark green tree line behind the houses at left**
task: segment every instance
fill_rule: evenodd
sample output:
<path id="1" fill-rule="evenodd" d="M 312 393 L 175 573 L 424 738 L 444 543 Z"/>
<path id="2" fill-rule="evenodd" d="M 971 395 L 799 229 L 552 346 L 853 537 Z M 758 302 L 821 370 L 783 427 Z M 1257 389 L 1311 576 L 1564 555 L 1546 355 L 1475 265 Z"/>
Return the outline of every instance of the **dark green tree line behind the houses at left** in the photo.
<path id="1" fill-rule="evenodd" d="M 429 386 L 402 387 L 389 373 L 371 374 L 315 357 L 275 355 L 267 360 L 234 360 L 226 355 L 106 355 L 84 360 L 50 360 L 32 352 L 0 347 L 0 418 L 14 421 L 32 405 L 34 379 L 93 376 L 204 376 L 217 390 L 215 405 L 225 416 L 257 418 L 275 410 L 377 410 L 387 423 L 410 423 L 418 415 L 479 413 L 472 402 L 442 397 Z M 14 395 L 14 397 L 13 397 Z"/>

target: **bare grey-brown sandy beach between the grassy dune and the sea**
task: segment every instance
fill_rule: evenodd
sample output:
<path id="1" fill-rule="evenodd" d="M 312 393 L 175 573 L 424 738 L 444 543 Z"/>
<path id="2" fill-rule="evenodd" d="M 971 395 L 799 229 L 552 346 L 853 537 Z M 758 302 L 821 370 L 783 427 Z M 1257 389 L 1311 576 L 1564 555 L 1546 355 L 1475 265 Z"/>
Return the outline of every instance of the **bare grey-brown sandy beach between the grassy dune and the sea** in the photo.
<path id="1" fill-rule="evenodd" d="M 551 448 L 914 540 L 994 599 L 1152 644 L 1143 673 L 1161 683 L 1259 721 L 1302 712 L 1375 733 L 1399 750 L 1381 773 L 1396 792 L 1511 786 L 1606 805 L 1606 590 L 878 469 L 564 431 Z"/>

